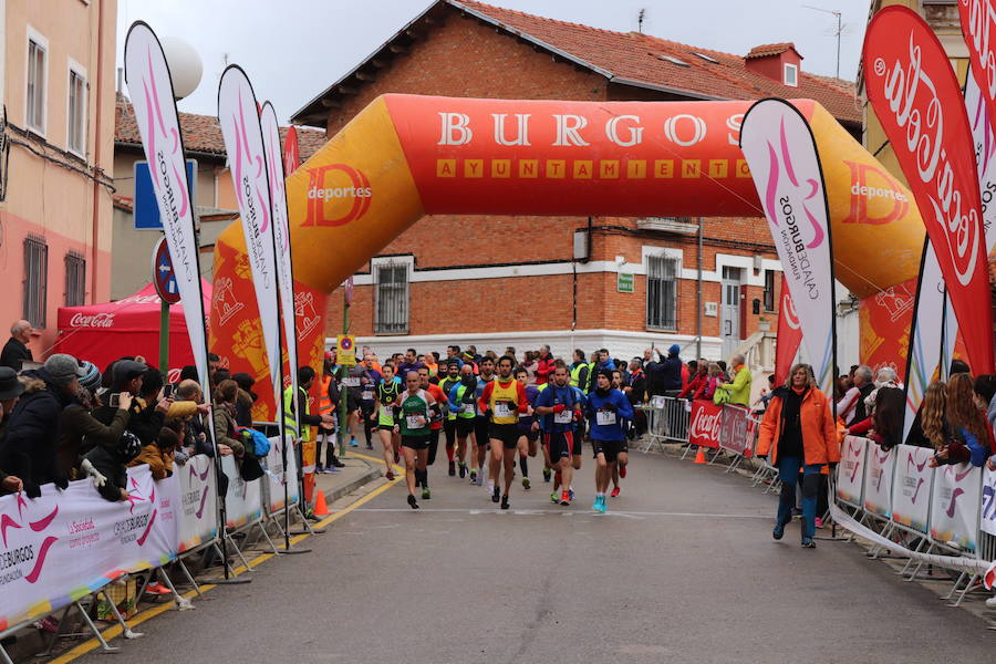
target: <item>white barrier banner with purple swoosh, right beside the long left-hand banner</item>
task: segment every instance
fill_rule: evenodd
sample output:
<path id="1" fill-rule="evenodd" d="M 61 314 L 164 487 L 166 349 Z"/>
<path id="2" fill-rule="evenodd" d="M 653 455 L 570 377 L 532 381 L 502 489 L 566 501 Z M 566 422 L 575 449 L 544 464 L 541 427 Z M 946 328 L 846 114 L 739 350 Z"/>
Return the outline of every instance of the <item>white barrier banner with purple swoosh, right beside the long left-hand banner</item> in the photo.
<path id="1" fill-rule="evenodd" d="M 170 481 L 172 480 L 172 481 Z M 173 476 L 159 483 L 177 492 L 177 553 L 218 537 L 218 481 L 210 457 L 199 454 L 176 465 Z"/>

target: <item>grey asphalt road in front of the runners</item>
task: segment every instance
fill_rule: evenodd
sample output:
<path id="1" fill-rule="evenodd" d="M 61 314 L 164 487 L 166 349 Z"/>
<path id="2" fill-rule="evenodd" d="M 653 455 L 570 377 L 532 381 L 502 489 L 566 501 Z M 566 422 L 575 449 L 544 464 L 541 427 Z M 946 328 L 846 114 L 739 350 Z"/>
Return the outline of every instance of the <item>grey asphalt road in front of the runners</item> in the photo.
<path id="1" fill-rule="evenodd" d="M 445 458 L 445 457 L 444 457 Z M 776 498 L 720 468 L 633 455 L 608 515 L 516 485 L 512 509 L 432 470 L 268 561 L 249 585 L 141 626 L 127 662 L 981 662 L 994 633 L 857 546 L 770 537 Z M 93 653 L 85 662 L 105 662 Z"/>

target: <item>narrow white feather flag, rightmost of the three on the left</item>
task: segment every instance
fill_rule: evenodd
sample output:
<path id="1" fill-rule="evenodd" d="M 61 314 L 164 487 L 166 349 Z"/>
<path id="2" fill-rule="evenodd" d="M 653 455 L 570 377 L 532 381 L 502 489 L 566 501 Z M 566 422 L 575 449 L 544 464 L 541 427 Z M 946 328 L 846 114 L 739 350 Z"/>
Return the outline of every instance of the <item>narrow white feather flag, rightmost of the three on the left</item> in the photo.
<path id="1" fill-rule="evenodd" d="M 280 148 L 280 127 L 273 104 L 266 102 L 259 114 L 263 149 L 267 154 L 267 175 L 270 181 L 270 203 L 273 206 L 273 241 L 277 245 L 277 286 L 280 290 L 280 315 L 283 317 L 283 338 L 290 367 L 292 394 L 298 394 L 298 332 L 294 313 L 294 269 L 290 246 L 290 219 L 287 212 L 287 187 L 283 173 L 283 152 Z M 280 402 L 278 402 L 280 403 Z M 294 408 L 297 414 L 297 408 Z M 283 422 L 281 418 L 280 422 Z"/>

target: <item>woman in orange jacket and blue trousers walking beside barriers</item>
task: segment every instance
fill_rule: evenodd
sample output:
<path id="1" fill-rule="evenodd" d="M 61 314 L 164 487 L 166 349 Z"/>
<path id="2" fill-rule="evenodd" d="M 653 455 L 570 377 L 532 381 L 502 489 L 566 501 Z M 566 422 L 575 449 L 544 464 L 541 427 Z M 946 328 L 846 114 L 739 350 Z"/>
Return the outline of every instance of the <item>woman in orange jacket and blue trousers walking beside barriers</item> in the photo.
<path id="1" fill-rule="evenodd" d="M 808 364 L 796 364 L 789 378 L 771 393 L 757 444 L 757 456 L 771 455 L 778 468 L 781 495 L 771 536 L 780 540 L 792 519 L 796 483 L 802 471 L 802 546 L 816 547 L 816 506 L 823 466 L 840 461 L 837 428 L 830 414 L 830 401 L 820 392 Z"/>

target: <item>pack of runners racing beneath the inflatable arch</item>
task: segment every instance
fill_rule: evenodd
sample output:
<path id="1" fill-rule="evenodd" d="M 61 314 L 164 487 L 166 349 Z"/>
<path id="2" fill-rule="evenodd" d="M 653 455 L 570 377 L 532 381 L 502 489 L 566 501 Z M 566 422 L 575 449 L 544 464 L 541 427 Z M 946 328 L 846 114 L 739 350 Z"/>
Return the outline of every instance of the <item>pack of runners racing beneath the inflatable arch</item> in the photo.
<path id="1" fill-rule="evenodd" d="M 387 479 L 394 479 L 394 464 L 404 459 L 412 509 L 419 507 L 419 489 L 423 500 L 432 498 L 428 466 L 440 438 L 448 475 L 476 486 L 487 481 L 491 501 L 501 509 L 510 507 L 517 475 L 523 490 L 531 488 L 529 459 L 541 452 L 543 481 L 553 485 L 550 500 L 570 506 L 587 438 L 596 460 L 592 509 L 605 512 L 609 484 L 614 483 L 615 497 L 619 479 L 626 476 L 626 430 L 634 411 L 620 391 L 620 372 L 608 351 L 602 353 L 602 362 L 584 364 L 584 372 L 578 371 L 578 362 L 569 366 L 548 353 L 546 375 L 536 375 L 510 354 L 477 362 L 454 355 L 429 367 L 416 361 L 414 351 L 412 357 L 376 369 L 367 356 L 350 373 L 359 378 L 355 405 L 367 446 L 375 429 Z"/>

